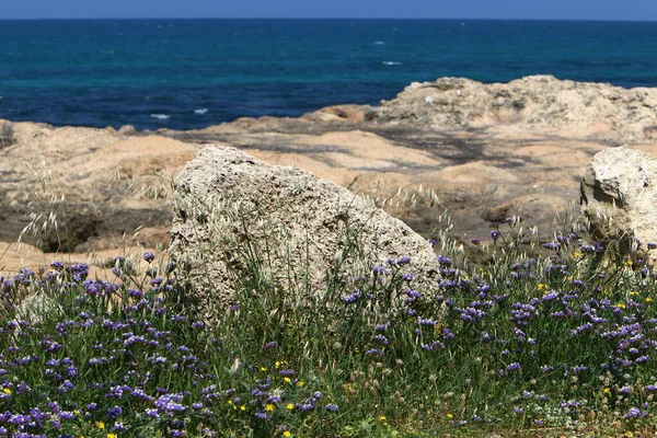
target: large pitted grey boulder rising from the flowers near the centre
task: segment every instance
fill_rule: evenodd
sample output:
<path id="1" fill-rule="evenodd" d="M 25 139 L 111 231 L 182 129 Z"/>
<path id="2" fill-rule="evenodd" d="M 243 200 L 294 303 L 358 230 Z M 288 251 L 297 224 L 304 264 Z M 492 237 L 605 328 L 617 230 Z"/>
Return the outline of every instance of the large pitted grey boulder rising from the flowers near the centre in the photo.
<path id="1" fill-rule="evenodd" d="M 332 266 L 367 274 L 412 256 L 425 285 L 439 269 L 430 244 L 371 200 L 227 147 L 204 147 L 177 177 L 171 235 L 178 276 L 203 309 L 234 301 L 254 265 L 281 293 L 300 298 L 326 293 Z"/>

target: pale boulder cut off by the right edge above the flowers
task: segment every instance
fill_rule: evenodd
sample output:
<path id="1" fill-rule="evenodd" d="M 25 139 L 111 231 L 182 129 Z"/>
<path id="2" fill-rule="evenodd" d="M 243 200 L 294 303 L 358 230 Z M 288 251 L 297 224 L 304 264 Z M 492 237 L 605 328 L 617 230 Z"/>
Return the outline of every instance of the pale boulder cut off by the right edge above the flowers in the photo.
<path id="1" fill-rule="evenodd" d="M 593 157 L 581 181 L 581 212 L 593 239 L 618 241 L 625 252 L 632 238 L 657 243 L 656 207 L 656 158 L 625 147 Z"/>

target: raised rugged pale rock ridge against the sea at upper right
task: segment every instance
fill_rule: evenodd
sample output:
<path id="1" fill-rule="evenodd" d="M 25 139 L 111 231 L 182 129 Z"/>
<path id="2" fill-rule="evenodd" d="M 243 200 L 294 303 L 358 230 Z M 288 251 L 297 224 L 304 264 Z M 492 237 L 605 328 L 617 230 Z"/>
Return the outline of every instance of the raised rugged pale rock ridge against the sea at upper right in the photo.
<path id="1" fill-rule="evenodd" d="M 498 125 L 543 131 L 558 128 L 562 135 L 586 132 L 620 145 L 657 135 L 657 90 L 623 89 L 552 76 L 489 84 L 441 78 L 412 83 L 395 99 L 368 112 L 368 118 L 440 129 Z"/>

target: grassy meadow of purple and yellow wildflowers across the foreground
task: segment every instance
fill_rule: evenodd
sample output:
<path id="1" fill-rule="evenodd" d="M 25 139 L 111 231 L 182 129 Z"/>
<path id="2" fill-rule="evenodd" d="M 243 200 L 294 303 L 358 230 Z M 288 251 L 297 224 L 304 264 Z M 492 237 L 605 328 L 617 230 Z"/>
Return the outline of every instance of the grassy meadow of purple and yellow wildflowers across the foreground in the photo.
<path id="1" fill-rule="evenodd" d="M 302 300 L 254 266 L 212 321 L 150 253 L 113 281 L 0 277 L 0 437 L 652 436 L 648 243 L 563 233 L 528 256 L 509 223 L 481 266 L 442 235 L 430 291 L 413 254 Z"/>

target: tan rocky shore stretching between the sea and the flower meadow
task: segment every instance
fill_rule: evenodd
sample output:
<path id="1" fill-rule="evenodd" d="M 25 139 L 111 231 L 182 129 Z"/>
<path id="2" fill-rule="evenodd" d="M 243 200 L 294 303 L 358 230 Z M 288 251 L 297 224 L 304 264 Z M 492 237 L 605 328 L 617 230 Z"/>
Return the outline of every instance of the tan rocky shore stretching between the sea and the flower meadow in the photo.
<path id="1" fill-rule="evenodd" d="M 549 76 L 495 84 L 442 78 L 413 83 L 380 106 L 240 118 L 200 130 L 0 120 L 0 272 L 56 252 L 166 246 L 171 180 L 204 143 L 390 198 L 384 208 L 424 237 L 445 209 L 463 242 L 511 216 L 548 233 L 578 201 L 596 152 L 629 145 L 657 155 L 657 89 Z M 4 253 L 20 235 L 28 245 Z"/>

